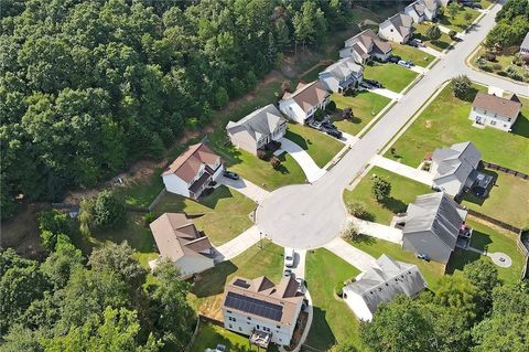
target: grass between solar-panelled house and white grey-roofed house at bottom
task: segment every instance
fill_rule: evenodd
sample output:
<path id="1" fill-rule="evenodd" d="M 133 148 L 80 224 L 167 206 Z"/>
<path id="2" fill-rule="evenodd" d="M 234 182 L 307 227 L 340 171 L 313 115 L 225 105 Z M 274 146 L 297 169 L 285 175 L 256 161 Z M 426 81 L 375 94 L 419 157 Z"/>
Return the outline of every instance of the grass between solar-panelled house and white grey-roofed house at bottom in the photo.
<path id="1" fill-rule="evenodd" d="M 327 351 L 336 342 L 352 341 L 359 349 L 358 320 L 349 307 L 334 297 L 334 287 L 359 274 L 358 269 L 324 248 L 306 256 L 306 285 L 314 316 L 306 344 Z"/>

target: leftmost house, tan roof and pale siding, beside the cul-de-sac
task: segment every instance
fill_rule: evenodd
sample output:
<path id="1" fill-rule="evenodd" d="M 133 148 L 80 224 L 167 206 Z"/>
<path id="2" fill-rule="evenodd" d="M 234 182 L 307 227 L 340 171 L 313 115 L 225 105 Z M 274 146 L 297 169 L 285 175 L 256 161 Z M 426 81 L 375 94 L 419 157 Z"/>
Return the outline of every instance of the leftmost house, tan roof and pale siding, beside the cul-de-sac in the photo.
<path id="1" fill-rule="evenodd" d="M 149 226 L 160 257 L 173 262 L 183 277 L 214 267 L 212 243 L 185 214 L 164 213 Z"/>

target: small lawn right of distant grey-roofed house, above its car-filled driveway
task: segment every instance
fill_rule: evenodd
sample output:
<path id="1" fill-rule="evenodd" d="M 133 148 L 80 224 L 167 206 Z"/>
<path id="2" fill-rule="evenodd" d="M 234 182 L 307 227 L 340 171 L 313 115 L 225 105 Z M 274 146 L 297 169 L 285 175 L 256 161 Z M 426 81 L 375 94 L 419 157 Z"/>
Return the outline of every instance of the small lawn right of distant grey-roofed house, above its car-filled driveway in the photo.
<path id="1" fill-rule="evenodd" d="M 373 65 L 364 66 L 364 77 L 376 79 L 380 82 L 385 88 L 397 93 L 404 89 L 417 75 L 418 73 L 411 70 L 390 63 L 380 64 L 375 62 Z"/>

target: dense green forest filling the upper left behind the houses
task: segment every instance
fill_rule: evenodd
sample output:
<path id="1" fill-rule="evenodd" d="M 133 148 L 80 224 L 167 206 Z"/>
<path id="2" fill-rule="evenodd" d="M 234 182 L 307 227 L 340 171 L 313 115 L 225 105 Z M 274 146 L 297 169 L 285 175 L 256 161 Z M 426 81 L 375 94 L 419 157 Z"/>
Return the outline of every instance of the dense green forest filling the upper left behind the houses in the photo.
<path id="1" fill-rule="evenodd" d="M 1 215 L 58 201 L 252 89 L 285 50 L 344 28 L 350 0 L 1 0 Z"/>

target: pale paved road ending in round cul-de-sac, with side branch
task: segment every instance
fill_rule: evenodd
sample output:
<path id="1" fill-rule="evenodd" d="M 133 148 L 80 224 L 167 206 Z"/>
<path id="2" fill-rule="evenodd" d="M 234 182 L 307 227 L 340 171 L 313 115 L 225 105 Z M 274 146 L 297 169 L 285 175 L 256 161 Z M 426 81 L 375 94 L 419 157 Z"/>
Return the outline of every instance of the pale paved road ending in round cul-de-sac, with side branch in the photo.
<path id="1" fill-rule="evenodd" d="M 276 243 L 294 248 L 317 248 L 333 241 L 346 222 L 343 190 L 435 89 L 455 75 L 466 74 L 473 81 L 528 95 L 527 85 L 489 76 L 465 65 L 466 57 L 494 26 L 499 9 L 500 6 L 494 6 L 465 40 L 443 55 L 323 178 L 313 184 L 285 186 L 270 193 L 257 211 L 259 228 Z"/>

